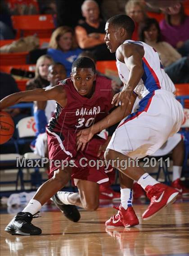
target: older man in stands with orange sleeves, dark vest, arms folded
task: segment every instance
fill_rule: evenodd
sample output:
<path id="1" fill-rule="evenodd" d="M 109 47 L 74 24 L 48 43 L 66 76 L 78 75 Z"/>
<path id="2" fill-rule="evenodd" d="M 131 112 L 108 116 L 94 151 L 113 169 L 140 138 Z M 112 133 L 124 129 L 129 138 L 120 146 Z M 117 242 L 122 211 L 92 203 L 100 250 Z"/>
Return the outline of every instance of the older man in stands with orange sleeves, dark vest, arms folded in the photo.
<path id="1" fill-rule="evenodd" d="M 105 22 L 100 20 L 99 5 L 96 1 L 85 0 L 81 5 L 85 22 L 76 26 L 76 39 L 82 50 L 90 50 L 97 60 L 115 59 L 104 41 Z"/>

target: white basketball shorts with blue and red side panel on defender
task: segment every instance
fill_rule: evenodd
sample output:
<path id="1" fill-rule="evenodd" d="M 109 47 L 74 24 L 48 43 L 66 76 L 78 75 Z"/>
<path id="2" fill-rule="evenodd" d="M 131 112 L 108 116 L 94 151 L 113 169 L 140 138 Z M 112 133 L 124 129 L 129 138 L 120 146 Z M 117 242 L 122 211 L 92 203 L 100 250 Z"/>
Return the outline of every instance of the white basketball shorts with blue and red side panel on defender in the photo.
<path id="1" fill-rule="evenodd" d="M 107 149 L 132 159 L 152 155 L 179 131 L 183 120 L 183 107 L 171 92 L 150 92 L 139 101 L 139 109 L 121 121 Z"/>

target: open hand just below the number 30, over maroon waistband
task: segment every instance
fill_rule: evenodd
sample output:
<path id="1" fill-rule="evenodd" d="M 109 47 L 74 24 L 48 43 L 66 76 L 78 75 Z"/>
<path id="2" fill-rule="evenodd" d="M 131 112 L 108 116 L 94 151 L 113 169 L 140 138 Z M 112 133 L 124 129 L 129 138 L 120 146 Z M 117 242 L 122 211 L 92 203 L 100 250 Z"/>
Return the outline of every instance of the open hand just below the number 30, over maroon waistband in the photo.
<path id="1" fill-rule="evenodd" d="M 94 133 L 92 132 L 92 128 L 90 127 L 90 128 L 79 131 L 76 136 L 77 136 L 77 141 L 76 141 L 77 151 L 80 148 L 81 148 L 81 151 L 83 151 L 86 143 L 92 139 L 92 137 L 94 136 Z"/>

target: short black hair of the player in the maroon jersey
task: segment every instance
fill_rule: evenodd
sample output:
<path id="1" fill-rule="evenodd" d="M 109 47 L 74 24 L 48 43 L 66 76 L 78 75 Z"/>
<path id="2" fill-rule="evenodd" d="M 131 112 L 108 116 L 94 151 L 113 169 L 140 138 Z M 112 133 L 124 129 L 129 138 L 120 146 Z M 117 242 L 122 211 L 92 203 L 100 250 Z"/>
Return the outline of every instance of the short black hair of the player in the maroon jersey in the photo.
<path id="1" fill-rule="evenodd" d="M 76 59 L 72 64 L 72 73 L 74 73 L 74 69 L 92 69 L 92 71 L 96 73 L 94 61 L 87 57 Z"/>

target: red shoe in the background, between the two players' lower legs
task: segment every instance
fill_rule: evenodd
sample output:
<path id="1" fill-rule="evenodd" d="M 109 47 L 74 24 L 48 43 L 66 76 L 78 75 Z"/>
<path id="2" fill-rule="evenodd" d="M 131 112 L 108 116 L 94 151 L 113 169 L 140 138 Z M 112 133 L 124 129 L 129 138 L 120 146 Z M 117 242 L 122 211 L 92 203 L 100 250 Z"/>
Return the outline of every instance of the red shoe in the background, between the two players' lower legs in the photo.
<path id="1" fill-rule="evenodd" d="M 105 187 L 103 185 L 100 185 L 99 187 L 99 199 L 101 200 L 113 200 L 117 201 L 120 200 L 120 192 L 114 191 L 111 187 Z"/>

